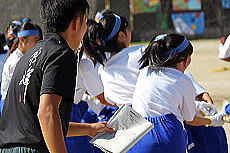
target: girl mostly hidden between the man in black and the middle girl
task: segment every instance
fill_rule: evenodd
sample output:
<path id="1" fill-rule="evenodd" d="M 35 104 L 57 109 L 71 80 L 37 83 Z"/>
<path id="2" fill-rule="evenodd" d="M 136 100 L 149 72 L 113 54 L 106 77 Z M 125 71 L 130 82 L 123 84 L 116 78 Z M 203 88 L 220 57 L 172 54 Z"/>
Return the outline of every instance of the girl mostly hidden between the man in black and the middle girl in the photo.
<path id="1" fill-rule="evenodd" d="M 88 27 L 92 24 L 97 23 L 94 20 L 87 21 Z M 86 46 L 90 46 L 87 35 L 88 31 L 89 28 L 87 28 L 86 35 L 84 36 L 84 47 L 81 47 L 81 50 L 78 52 L 76 87 L 74 94 L 75 104 L 72 107 L 72 114 L 70 119 L 72 122 L 78 123 L 98 122 L 97 116 L 101 114 L 103 114 L 104 116 L 103 120 L 108 120 L 108 117 L 111 117 L 110 112 L 117 109 L 117 107 L 107 106 L 111 104 L 104 99 L 104 87 L 98 74 L 99 63 L 94 63 L 83 52 Z M 85 93 L 87 93 L 87 96 Z M 92 97 L 96 97 L 97 99 L 92 100 Z M 84 99 L 88 105 L 85 101 L 82 101 L 82 99 Z M 98 101 L 100 101 L 100 103 L 98 103 Z M 104 109 L 106 111 L 106 114 L 103 113 Z M 91 138 L 89 138 L 88 136 L 66 138 L 65 142 L 68 153 L 94 153 L 95 148 L 92 144 L 89 143 L 90 140 Z"/>

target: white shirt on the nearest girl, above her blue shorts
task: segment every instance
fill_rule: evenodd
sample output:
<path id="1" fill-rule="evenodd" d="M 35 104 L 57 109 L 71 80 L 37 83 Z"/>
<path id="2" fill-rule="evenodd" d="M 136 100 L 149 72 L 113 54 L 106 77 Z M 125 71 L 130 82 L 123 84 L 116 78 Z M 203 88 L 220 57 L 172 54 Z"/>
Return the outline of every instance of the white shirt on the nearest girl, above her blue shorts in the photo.
<path id="1" fill-rule="evenodd" d="M 133 94 L 133 108 L 143 117 L 174 114 L 181 122 L 192 121 L 195 88 L 191 80 L 173 68 L 140 71 Z"/>

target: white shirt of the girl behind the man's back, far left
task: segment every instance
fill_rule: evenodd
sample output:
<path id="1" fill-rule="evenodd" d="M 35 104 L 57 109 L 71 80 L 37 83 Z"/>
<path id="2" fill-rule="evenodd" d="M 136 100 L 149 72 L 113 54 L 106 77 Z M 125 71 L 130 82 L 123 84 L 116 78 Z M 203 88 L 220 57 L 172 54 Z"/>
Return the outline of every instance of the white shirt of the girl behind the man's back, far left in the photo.
<path id="1" fill-rule="evenodd" d="M 1 82 L 1 94 L 3 100 L 5 100 L 6 98 L 6 94 L 10 85 L 10 80 L 14 73 L 14 69 L 18 61 L 22 58 L 22 56 L 23 53 L 17 48 L 12 54 L 10 54 L 3 66 Z"/>

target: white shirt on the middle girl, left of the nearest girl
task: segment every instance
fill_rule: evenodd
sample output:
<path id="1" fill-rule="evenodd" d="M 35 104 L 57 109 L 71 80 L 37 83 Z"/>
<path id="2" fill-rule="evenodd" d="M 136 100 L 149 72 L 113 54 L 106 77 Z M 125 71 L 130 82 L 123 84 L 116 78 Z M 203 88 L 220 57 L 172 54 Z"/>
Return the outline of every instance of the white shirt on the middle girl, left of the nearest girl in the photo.
<path id="1" fill-rule="evenodd" d="M 111 56 L 99 67 L 99 75 L 104 85 L 105 99 L 117 105 L 132 104 L 133 92 L 139 75 L 139 60 L 145 46 L 125 48 Z"/>

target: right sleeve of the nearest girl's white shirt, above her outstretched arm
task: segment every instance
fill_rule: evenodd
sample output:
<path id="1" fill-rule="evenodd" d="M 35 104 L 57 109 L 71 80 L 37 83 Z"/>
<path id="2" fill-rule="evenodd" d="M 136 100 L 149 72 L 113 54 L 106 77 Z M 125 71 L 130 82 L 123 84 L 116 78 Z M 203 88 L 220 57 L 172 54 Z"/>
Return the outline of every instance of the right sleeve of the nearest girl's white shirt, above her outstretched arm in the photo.
<path id="1" fill-rule="evenodd" d="M 184 77 L 185 79 L 181 79 L 181 93 L 183 94 L 182 103 L 180 105 L 181 115 L 185 121 L 192 121 L 194 116 L 196 115 L 196 91 L 192 82 L 186 76 Z"/>

